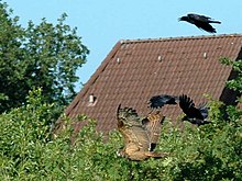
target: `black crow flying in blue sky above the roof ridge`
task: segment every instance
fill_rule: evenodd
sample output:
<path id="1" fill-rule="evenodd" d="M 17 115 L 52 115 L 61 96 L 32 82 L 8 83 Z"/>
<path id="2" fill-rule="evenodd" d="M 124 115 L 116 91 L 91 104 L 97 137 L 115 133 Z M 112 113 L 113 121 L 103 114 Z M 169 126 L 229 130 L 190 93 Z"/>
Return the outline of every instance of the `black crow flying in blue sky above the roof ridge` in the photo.
<path id="1" fill-rule="evenodd" d="M 219 21 L 213 21 L 209 16 L 199 15 L 199 14 L 187 14 L 186 16 L 182 16 L 178 19 L 179 21 L 187 21 L 188 23 L 191 23 L 196 25 L 198 29 L 202 29 L 209 33 L 216 33 L 216 29 L 212 27 L 209 23 L 218 23 Z"/>

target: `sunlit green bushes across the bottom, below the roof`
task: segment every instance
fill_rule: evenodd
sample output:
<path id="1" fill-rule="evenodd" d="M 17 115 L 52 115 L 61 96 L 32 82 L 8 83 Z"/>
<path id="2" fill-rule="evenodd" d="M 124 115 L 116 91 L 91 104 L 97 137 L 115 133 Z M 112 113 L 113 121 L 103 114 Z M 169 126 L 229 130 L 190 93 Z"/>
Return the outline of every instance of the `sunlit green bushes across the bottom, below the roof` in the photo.
<path id="1" fill-rule="evenodd" d="M 241 180 L 241 110 L 229 106 L 222 120 L 220 102 L 211 101 L 212 124 L 178 129 L 168 120 L 158 150 L 164 159 L 130 161 L 117 156 L 122 137 L 113 131 L 108 142 L 88 124 L 72 142 L 70 121 L 52 135 L 53 104 L 41 90 L 30 92 L 28 104 L 0 115 L 0 180 Z"/>

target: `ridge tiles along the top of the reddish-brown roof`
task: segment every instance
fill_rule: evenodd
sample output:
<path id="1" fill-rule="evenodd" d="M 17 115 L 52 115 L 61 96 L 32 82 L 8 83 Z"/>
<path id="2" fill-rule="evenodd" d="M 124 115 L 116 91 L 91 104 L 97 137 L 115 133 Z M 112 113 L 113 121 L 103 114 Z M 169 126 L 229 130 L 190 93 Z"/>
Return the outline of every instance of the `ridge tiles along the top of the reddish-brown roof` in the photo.
<path id="1" fill-rule="evenodd" d="M 183 41 L 183 39 L 198 39 L 198 38 L 221 38 L 221 37 L 242 36 L 242 33 L 219 34 L 219 35 L 198 35 L 198 36 L 177 36 L 177 37 L 158 37 L 158 38 L 138 38 L 138 39 L 120 39 L 121 44 L 127 43 L 143 43 L 143 42 L 161 42 L 161 41 Z"/>

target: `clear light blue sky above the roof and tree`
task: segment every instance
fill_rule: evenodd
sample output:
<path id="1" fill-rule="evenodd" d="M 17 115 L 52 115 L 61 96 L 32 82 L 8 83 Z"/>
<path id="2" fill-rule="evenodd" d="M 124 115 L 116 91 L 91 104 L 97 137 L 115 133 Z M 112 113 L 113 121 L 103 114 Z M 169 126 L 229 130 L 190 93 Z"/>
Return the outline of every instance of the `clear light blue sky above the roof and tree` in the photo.
<path id="1" fill-rule="evenodd" d="M 42 18 L 51 23 L 64 12 L 66 23 L 77 27 L 82 43 L 90 49 L 87 64 L 78 70 L 85 83 L 111 48 L 120 39 L 160 38 L 208 35 L 194 25 L 177 19 L 194 12 L 222 22 L 215 25 L 218 34 L 242 33 L 241 0 L 7 0 L 13 14 L 24 26 Z M 77 90 L 80 89 L 77 84 Z"/>

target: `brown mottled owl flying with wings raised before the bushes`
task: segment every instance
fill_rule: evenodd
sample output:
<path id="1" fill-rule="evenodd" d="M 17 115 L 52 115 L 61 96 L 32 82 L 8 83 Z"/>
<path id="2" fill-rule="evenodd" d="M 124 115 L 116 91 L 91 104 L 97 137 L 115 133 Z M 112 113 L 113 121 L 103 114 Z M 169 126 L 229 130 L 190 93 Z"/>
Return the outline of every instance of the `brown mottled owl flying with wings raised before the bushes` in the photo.
<path id="1" fill-rule="evenodd" d="M 154 151 L 164 118 L 161 111 L 154 111 L 145 118 L 141 118 L 134 109 L 122 109 L 120 104 L 117 110 L 117 120 L 118 129 L 124 139 L 124 147 L 118 154 L 136 161 L 166 156 L 165 152 Z"/>

